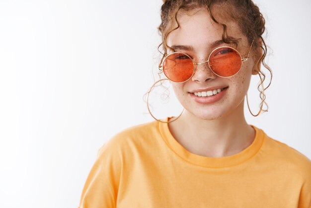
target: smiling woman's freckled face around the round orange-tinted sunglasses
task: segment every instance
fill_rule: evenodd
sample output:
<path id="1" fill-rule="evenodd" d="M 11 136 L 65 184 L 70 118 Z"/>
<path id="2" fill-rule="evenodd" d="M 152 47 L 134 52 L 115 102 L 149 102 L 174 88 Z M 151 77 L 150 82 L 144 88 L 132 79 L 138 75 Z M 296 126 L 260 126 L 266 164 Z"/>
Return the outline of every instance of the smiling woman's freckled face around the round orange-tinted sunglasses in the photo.
<path id="1" fill-rule="evenodd" d="M 222 40 L 223 27 L 215 22 L 212 23 L 206 9 L 202 9 L 191 16 L 181 14 L 177 19 L 180 27 L 168 35 L 167 45 L 192 46 L 192 50 L 180 49 L 179 47 L 175 51 L 190 55 L 194 58 L 195 63 L 207 61 L 213 49 L 219 46 L 231 46 L 237 49 L 242 57 L 245 57 L 249 51 L 246 36 L 240 32 L 233 22 L 225 23 L 228 26 L 228 35 L 233 38 L 240 38 L 237 48 L 234 45 L 222 42 L 213 46 L 213 43 Z M 168 54 L 171 52 L 170 50 L 167 51 Z M 184 83 L 172 82 L 172 87 L 185 110 L 205 120 L 217 119 L 243 107 L 253 66 L 254 59 L 248 58 L 247 62 L 242 63 L 241 69 L 236 75 L 230 78 L 222 78 L 211 71 L 208 63 L 195 65 L 194 67 L 197 69 L 191 79 Z M 225 90 L 213 96 L 198 97 L 193 93 L 213 91 L 220 88 L 225 88 Z"/>

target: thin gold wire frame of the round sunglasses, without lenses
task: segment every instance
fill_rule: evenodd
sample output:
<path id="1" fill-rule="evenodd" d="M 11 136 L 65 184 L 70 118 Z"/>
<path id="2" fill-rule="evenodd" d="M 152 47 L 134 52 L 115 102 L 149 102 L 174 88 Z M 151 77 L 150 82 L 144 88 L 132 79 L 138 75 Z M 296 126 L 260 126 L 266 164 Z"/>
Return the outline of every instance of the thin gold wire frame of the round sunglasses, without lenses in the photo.
<path id="1" fill-rule="evenodd" d="M 233 47 L 230 47 L 230 46 L 220 46 L 220 47 L 217 47 L 217 48 L 215 48 L 215 49 L 210 53 L 208 60 L 205 61 L 205 62 L 202 62 L 202 63 L 195 63 L 195 62 L 193 61 L 194 59 L 193 59 L 191 56 L 189 56 L 188 54 L 186 54 L 186 53 L 183 53 L 183 52 L 173 52 L 173 53 L 170 53 L 170 54 L 168 54 L 167 56 L 165 56 L 165 58 L 162 60 L 161 64 L 158 66 L 158 69 L 159 69 L 158 74 L 160 74 L 160 73 L 163 72 L 163 74 L 165 75 L 165 73 L 164 73 L 164 71 L 163 71 L 163 63 L 164 63 L 165 59 L 166 59 L 168 56 L 170 56 L 170 55 L 172 55 L 172 54 L 174 54 L 174 53 L 182 53 L 182 54 L 188 56 L 188 57 L 191 59 L 192 63 L 193 63 L 193 72 L 192 72 L 192 75 L 189 77 L 189 79 L 187 79 L 186 81 L 183 81 L 183 82 L 175 82 L 175 81 L 169 79 L 166 75 L 165 75 L 165 77 L 166 77 L 167 79 L 169 79 L 170 81 L 175 82 L 175 83 L 184 83 L 184 82 L 187 82 L 187 81 L 190 80 L 190 79 L 193 77 L 193 75 L 195 74 L 195 71 L 196 71 L 197 67 L 194 67 L 194 65 L 201 65 L 201 64 L 208 63 L 209 68 L 211 69 L 210 62 L 209 62 L 209 61 L 210 61 L 210 57 L 211 57 L 211 55 L 214 53 L 214 51 L 216 51 L 216 50 L 218 50 L 218 49 L 220 49 L 220 48 L 231 48 L 231 49 L 233 49 L 233 50 L 240 56 L 240 59 L 241 59 L 241 66 L 240 66 L 240 68 L 238 69 L 238 71 L 234 74 L 234 75 L 236 75 L 236 74 L 240 71 L 240 69 L 242 68 L 243 62 L 246 62 L 246 61 L 248 60 L 248 58 L 249 58 L 249 53 L 250 53 L 250 51 L 251 51 L 252 45 L 253 45 L 253 42 L 251 43 L 250 48 L 249 48 L 249 51 L 248 51 L 248 53 L 247 53 L 247 55 L 246 55 L 245 58 L 243 58 L 243 57 L 241 56 L 241 54 L 240 54 L 235 48 L 233 48 Z M 234 75 L 232 75 L 232 76 L 229 76 L 229 77 L 223 77 L 223 76 L 220 76 L 220 75 L 216 74 L 212 69 L 211 69 L 211 71 L 212 71 L 215 75 L 217 75 L 218 77 L 222 77 L 222 78 L 230 78 L 230 77 L 233 77 L 233 76 L 234 76 Z"/>

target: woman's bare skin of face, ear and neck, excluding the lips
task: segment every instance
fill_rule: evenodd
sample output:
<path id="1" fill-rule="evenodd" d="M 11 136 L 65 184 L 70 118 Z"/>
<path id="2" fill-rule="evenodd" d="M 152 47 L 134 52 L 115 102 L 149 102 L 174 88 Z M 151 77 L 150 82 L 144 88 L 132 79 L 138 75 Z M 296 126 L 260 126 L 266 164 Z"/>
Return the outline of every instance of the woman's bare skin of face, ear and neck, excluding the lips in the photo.
<path id="1" fill-rule="evenodd" d="M 222 39 L 223 27 L 210 19 L 206 9 L 191 15 L 180 13 L 177 19 L 180 28 L 168 35 L 167 45 L 191 45 L 193 51 L 176 51 L 189 54 L 196 63 L 205 62 L 215 48 L 210 48 L 211 43 Z M 242 57 L 246 56 L 250 48 L 246 36 L 234 22 L 225 23 L 230 36 L 241 38 L 236 49 Z M 225 45 L 234 47 L 226 43 L 219 46 Z M 208 64 L 203 64 L 195 66 L 196 72 L 187 82 L 172 82 L 175 95 L 185 109 L 176 121 L 168 123 L 168 127 L 176 141 L 188 151 L 206 157 L 224 157 L 244 150 L 253 142 L 255 130 L 247 124 L 243 109 L 251 75 L 257 74 L 258 57 L 252 52 L 249 56 L 231 78 L 218 77 Z M 190 97 L 190 91 L 219 85 L 229 88 L 216 103 L 199 104 Z"/>

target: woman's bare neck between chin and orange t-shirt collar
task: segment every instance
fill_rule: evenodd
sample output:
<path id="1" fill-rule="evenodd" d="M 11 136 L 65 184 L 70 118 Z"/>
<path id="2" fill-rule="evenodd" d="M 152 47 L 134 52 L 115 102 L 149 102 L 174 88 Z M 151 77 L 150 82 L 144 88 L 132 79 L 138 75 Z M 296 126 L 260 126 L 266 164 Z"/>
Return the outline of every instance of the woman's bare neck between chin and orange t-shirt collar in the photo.
<path id="1" fill-rule="evenodd" d="M 188 151 L 207 157 L 225 157 L 248 147 L 254 129 L 244 117 L 244 102 L 219 119 L 204 120 L 189 111 L 168 124 L 174 138 Z"/>

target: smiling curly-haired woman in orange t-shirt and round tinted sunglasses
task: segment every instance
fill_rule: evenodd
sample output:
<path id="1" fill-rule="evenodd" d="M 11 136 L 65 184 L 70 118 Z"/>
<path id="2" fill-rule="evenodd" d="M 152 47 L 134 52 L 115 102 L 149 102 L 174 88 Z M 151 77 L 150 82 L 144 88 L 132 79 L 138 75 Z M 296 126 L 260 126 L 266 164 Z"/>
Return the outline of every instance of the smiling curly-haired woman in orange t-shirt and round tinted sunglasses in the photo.
<path id="1" fill-rule="evenodd" d="M 269 86 L 258 7 L 167 0 L 161 20 L 159 70 L 184 110 L 106 142 L 79 208 L 311 208 L 310 159 L 244 118 L 251 75 L 262 80 L 260 111 Z"/>

